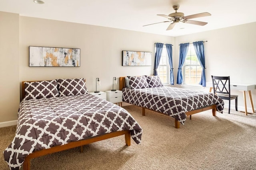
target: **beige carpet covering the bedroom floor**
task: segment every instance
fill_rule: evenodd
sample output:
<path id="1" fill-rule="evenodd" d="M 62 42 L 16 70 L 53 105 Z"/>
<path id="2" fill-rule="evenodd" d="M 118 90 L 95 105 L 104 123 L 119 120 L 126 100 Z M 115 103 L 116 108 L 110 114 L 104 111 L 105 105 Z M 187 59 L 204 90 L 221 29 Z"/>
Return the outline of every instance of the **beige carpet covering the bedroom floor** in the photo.
<path id="1" fill-rule="evenodd" d="M 204 111 L 180 129 L 174 119 L 137 106 L 125 106 L 143 129 L 142 145 L 124 136 L 34 158 L 32 170 L 251 170 L 256 169 L 256 114 Z M 10 144 L 15 126 L 0 128 L 0 150 Z M 0 168 L 8 170 L 3 155 Z"/>

